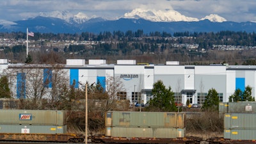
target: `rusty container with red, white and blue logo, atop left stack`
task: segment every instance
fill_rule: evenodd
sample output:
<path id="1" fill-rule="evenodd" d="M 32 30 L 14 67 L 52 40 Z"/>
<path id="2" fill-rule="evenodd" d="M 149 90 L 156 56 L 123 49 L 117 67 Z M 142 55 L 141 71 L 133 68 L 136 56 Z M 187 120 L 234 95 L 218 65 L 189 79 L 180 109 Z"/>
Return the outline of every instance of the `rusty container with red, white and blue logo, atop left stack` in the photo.
<path id="1" fill-rule="evenodd" d="M 66 111 L 1 109 L 0 124 L 66 125 Z"/>

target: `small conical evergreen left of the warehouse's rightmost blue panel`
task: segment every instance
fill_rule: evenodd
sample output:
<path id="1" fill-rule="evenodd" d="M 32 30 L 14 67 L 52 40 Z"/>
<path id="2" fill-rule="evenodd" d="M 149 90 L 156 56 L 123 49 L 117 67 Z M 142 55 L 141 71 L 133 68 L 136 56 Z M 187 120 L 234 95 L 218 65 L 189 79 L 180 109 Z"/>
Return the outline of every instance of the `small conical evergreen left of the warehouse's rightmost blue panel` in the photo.
<path id="1" fill-rule="evenodd" d="M 208 95 L 205 97 L 203 109 L 217 110 L 219 109 L 220 99 L 218 97 L 218 92 L 212 88 L 208 91 Z"/>

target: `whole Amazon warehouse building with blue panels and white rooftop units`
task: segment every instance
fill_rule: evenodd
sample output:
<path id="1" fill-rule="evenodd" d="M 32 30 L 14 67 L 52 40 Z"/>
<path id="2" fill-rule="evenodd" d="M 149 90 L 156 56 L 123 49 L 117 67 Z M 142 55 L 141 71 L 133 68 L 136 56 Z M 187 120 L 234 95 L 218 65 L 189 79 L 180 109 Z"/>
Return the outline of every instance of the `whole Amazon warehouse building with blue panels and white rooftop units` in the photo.
<path id="1" fill-rule="evenodd" d="M 12 97 L 28 98 L 28 88 L 33 78 L 39 77 L 40 83 L 50 90 L 54 83 L 56 70 L 50 65 L 11 64 L 0 60 L 1 75 L 8 75 Z M 116 64 L 107 64 L 106 60 L 68 59 L 65 65 L 58 67 L 65 83 L 81 88 L 83 84 L 100 83 L 108 90 L 108 79 L 122 83 L 122 89 L 116 92 L 116 99 L 142 101 L 152 99 L 153 84 L 163 81 L 164 86 L 172 88 L 177 104 L 203 104 L 208 91 L 214 88 L 221 102 L 228 102 L 228 97 L 237 88 L 244 90 L 252 87 L 255 97 L 256 66 L 249 65 L 179 65 L 179 61 L 166 61 L 164 64 L 136 63 L 136 60 L 117 60 Z M 40 75 L 35 75 L 40 74 Z M 60 79 L 56 80 L 60 81 Z M 118 82 L 117 82 L 118 81 Z M 47 82 L 47 83 L 46 83 Z M 45 97 L 49 93 L 45 93 Z"/>

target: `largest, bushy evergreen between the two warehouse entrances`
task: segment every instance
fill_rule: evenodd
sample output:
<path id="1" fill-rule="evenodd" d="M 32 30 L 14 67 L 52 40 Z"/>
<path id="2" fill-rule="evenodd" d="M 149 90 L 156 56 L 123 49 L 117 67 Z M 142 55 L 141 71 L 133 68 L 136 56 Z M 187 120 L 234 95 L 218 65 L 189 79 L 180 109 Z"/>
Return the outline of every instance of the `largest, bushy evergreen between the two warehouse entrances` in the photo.
<path id="1" fill-rule="evenodd" d="M 177 111 L 170 86 L 166 88 L 162 81 L 157 81 L 153 85 L 152 95 L 154 96 L 150 100 L 150 111 Z"/>

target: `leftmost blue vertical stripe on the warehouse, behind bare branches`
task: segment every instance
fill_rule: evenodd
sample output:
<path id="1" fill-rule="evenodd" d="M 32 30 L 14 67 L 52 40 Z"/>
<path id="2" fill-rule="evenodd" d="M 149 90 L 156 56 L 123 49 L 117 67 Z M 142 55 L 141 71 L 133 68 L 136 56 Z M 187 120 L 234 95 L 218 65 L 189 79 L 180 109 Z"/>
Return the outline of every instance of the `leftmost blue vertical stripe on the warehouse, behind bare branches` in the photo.
<path id="1" fill-rule="evenodd" d="M 17 99 L 26 99 L 26 74 L 17 74 Z"/>

